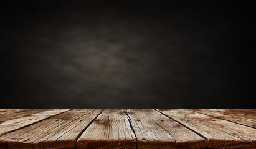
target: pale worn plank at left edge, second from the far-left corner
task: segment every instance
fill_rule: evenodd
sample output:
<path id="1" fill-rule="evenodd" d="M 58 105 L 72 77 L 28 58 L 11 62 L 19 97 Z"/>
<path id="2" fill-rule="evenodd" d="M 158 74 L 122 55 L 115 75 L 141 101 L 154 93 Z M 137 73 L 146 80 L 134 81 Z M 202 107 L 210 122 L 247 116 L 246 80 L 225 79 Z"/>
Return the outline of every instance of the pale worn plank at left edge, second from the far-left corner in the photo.
<path id="1" fill-rule="evenodd" d="M 34 114 L 28 112 L 28 115 L 24 114 L 24 117 L 18 116 L 17 119 L 6 119 L 6 121 L 0 124 L 0 135 L 4 135 L 13 130 L 20 129 L 26 125 L 34 124 L 35 122 L 39 122 L 40 120 L 47 119 L 66 111 L 69 111 L 69 109 L 50 109 L 48 111 L 42 111 Z"/>

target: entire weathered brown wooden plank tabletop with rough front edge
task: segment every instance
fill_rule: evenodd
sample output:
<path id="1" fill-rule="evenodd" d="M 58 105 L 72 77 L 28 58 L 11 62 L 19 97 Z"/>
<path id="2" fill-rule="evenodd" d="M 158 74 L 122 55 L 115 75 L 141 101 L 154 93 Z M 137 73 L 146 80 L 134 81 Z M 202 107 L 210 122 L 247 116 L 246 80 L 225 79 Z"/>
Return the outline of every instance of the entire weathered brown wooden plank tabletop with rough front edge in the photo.
<path id="1" fill-rule="evenodd" d="M 256 109 L 0 109 L 0 148 L 256 148 Z"/>

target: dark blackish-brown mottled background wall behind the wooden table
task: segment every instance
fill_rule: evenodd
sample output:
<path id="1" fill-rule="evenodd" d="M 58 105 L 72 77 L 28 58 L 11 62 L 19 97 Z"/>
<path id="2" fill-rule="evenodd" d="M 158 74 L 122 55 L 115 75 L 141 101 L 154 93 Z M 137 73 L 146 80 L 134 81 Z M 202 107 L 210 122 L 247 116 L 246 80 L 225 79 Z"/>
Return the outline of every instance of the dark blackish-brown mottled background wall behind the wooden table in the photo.
<path id="1" fill-rule="evenodd" d="M 255 108 L 256 1 L 1 1 L 0 108 Z"/>

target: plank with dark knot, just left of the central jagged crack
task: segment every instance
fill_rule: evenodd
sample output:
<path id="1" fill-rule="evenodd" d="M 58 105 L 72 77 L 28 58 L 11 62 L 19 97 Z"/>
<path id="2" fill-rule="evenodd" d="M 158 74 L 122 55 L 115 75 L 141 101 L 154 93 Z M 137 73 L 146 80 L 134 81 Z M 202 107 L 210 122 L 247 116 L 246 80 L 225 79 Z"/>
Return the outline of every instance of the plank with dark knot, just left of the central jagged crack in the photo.
<path id="1" fill-rule="evenodd" d="M 83 132 L 77 148 L 136 148 L 136 137 L 125 109 L 105 109 Z"/>

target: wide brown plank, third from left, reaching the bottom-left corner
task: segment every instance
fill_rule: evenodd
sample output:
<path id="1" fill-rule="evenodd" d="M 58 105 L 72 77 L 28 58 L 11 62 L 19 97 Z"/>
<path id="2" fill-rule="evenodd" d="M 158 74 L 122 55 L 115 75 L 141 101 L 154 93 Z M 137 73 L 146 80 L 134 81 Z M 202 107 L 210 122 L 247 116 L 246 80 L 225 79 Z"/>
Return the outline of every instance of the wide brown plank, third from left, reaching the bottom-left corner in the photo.
<path id="1" fill-rule="evenodd" d="M 75 148 L 75 142 L 101 109 L 73 109 L 0 137 L 9 148 Z"/>

